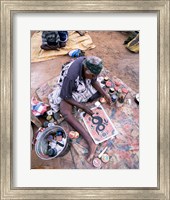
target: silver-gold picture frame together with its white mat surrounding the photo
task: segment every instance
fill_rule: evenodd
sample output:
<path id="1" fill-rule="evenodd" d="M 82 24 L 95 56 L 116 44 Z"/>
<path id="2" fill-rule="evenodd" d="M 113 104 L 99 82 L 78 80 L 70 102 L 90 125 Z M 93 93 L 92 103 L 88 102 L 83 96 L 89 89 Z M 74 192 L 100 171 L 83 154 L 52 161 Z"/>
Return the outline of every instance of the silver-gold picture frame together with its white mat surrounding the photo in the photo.
<path id="1" fill-rule="evenodd" d="M 1 199 L 170 199 L 169 9 L 169 1 L 163 0 L 1 0 Z M 55 26 L 58 30 L 139 31 L 136 169 L 31 167 L 30 37 L 33 31 Z"/>

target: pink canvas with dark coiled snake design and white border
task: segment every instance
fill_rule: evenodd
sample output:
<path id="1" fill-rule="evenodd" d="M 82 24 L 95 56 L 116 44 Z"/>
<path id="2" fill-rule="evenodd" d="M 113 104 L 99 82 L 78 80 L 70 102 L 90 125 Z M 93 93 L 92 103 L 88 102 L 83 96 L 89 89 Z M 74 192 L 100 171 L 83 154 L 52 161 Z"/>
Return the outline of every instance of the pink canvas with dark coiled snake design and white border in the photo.
<path id="1" fill-rule="evenodd" d="M 118 134 L 118 131 L 99 102 L 91 110 L 94 112 L 92 116 L 82 112 L 81 117 L 95 144 L 102 143 Z"/>

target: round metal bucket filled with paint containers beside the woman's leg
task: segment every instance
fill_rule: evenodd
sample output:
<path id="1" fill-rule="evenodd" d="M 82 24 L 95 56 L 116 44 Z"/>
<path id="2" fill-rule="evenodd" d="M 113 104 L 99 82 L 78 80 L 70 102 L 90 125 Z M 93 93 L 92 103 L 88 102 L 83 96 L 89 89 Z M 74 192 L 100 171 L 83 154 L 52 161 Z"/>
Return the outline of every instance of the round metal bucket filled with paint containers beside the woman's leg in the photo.
<path id="1" fill-rule="evenodd" d="M 49 142 L 49 138 L 55 137 L 58 132 L 62 133 L 62 143 L 56 142 L 55 146 L 55 140 L 52 139 Z M 35 144 L 35 152 L 42 160 L 51 160 L 56 157 L 64 156 L 69 150 L 69 138 L 61 126 L 51 126 L 46 128 L 42 133 L 40 133 Z"/>

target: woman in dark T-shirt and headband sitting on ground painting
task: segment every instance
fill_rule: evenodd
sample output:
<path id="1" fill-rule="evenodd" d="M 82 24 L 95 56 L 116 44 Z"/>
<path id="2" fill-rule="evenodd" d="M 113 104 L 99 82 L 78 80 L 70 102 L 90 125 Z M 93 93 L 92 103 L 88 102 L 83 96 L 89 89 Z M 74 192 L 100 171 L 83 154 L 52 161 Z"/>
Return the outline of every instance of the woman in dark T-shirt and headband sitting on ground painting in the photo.
<path id="1" fill-rule="evenodd" d="M 51 107 L 55 111 L 60 109 L 65 120 L 86 140 L 89 146 L 88 161 L 93 158 L 97 146 L 87 130 L 72 114 L 72 108 L 76 106 L 89 115 L 93 115 L 92 110 L 84 103 L 96 92 L 99 92 L 110 104 L 110 96 L 100 87 L 97 81 L 97 76 L 100 74 L 102 67 L 102 60 L 98 57 L 77 58 L 63 66 L 58 88 L 49 95 Z"/>

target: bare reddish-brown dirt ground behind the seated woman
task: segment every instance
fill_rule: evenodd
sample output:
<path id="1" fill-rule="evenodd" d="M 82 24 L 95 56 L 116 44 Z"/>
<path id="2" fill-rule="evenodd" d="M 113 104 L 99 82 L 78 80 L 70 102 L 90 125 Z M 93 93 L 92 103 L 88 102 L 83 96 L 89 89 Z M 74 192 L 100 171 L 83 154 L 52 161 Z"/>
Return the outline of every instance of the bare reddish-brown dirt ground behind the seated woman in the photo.
<path id="1" fill-rule="evenodd" d="M 130 52 L 123 45 L 129 36 L 125 32 L 89 31 L 94 49 L 87 50 L 85 55 L 94 55 L 103 59 L 104 66 L 110 71 L 110 78 L 116 76 L 136 93 L 139 92 L 139 54 Z M 43 83 L 58 75 L 63 63 L 70 61 L 69 55 L 58 56 L 56 59 L 31 63 L 31 94 Z M 57 160 L 57 159 L 56 159 Z M 42 161 L 32 151 L 31 168 L 38 168 Z M 60 160 L 55 168 L 60 168 Z"/>

